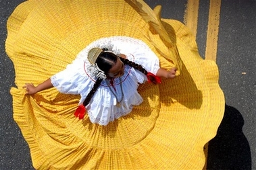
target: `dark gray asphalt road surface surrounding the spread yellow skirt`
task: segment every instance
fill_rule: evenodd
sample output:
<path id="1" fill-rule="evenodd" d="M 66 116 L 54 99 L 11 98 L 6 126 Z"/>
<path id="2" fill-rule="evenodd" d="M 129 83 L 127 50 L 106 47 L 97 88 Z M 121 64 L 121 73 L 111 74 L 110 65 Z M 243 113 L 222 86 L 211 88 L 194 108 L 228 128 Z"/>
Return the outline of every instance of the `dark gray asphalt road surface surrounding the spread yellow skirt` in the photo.
<path id="1" fill-rule="evenodd" d="M 33 169 L 28 144 L 12 118 L 14 65 L 5 54 L 7 18 L 22 0 L 0 0 L 0 169 Z M 147 0 L 163 5 L 162 17 L 183 21 L 186 0 Z M 207 169 L 256 169 L 256 2 L 222 0 L 217 65 L 226 112 L 209 142 Z M 209 0 L 200 1 L 197 42 L 204 58 Z M 246 74 L 242 74 L 246 73 Z"/>

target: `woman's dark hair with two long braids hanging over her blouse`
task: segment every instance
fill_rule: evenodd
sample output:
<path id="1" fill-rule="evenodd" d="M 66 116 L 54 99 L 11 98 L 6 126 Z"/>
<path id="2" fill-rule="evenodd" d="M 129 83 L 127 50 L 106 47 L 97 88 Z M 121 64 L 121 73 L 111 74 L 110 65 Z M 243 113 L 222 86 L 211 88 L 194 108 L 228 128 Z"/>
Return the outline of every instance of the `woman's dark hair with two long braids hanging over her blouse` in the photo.
<path id="1" fill-rule="evenodd" d="M 118 60 L 119 56 L 116 56 L 116 54 L 113 54 L 112 52 L 107 52 L 106 48 L 103 48 L 103 52 L 99 54 L 99 57 L 96 60 L 96 63 L 102 71 L 104 71 L 105 75 L 109 72 L 109 70 L 113 67 L 113 65 L 116 65 L 116 61 Z M 136 64 L 135 62 L 132 62 L 126 58 L 119 57 L 122 62 L 124 62 L 124 65 L 128 65 L 130 67 L 133 67 L 134 69 L 140 71 L 141 73 L 145 74 L 147 76 L 147 71 L 141 66 Z M 155 83 L 155 77 L 148 77 L 151 82 Z M 84 107 L 88 105 L 88 103 L 91 101 L 91 98 L 93 97 L 95 91 L 97 91 L 99 85 L 101 85 L 101 82 L 103 79 L 98 78 L 95 82 L 95 85 L 93 85 L 93 88 L 86 96 L 86 99 L 84 99 L 83 105 Z"/>

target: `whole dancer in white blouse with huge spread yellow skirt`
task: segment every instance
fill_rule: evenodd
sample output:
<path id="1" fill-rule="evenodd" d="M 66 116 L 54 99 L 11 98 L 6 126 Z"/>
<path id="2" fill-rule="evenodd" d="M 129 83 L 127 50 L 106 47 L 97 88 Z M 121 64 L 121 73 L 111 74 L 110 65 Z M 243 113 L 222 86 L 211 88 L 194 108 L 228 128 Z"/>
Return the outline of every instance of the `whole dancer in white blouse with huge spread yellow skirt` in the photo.
<path id="1" fill-rule="evenodd" d="M 17 88 L 11 88 L 14 120 L 28 142 L 36 169 L 203 168 L 203 146 L 215 136 L 224 114 L 217 67 L 215 62 L 199 56 L 188 28 L 178 21 L 161 19 L 160 11 L 161 7 L 152 10 L 140 0 L 30 0 L 11 14 L 6 52 L 16 71 Z M 120 52 L 147 72 L 157 74 L 161 67 L 176 77 L 136 87 L 147 77 L 128 65 L 122 69 L 125 61 L 120 55 L 120 68 L 118 72 L 110 71 L 110 77 L 121 79 L 108 81 L 111 79 L 104 77 L 105 72 L 101 74 L 103 67 L 95 65 L 102 51 L 90 57 L 93 48 L 108 48 L 114 56 Z M 100 97 L 97 93 L 105 88 L 109 100 L 107 95 L 100 100 L 92 97 L 82 120 L 75 118 L 74 112 L 88 93 L 83 90 L 89 88 L 69 88 L 71 81 L 67 77 L 76 82 L 75 76 L 68 75 L 72 71 L 86 75 L 90 82 L 96 77 L 106 78 L 93 97 Z M 139 81 L 129 89 L 124 77 L 132 74 Z M 56 88 L 26 95 L 34 87 L 30 82 L 38 86 L 49 77 L 57 79 L 51 81 Z M 84 87 L 92 88 L 94 83 L 86 86 L 86 82 Z M 28 92 L 22 88 L 25 83 Z M 126 94 L 122 95 L 122 91 Z M 120 101 L 122 96 L 126 101 L 128 95 L 133 96 L 129 103 L 134 107 L 116 107 L 125 103 Z M 117 113 L 128 108 L 130 111 L 112 116 L 116 120 L 109 116 L 105 119 L 107 126 L 97 121 L 93 124 L 89 110 L 97 110 L 93 103 L 105 102 L 118 108 Z M 97 116 L 104 108 L 98 108 Z M 113 114 L 114 110 L 108 112 Z"/>

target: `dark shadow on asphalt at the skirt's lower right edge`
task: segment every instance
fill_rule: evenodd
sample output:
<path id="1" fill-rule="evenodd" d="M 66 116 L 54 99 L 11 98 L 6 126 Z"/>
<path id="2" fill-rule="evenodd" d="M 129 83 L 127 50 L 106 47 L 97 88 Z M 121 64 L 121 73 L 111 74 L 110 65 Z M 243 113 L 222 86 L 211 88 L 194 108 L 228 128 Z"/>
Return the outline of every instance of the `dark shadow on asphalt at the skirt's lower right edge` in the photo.
<path id="1" fill-rule="evenodd" d="M 244 119 L 236 108 L 225 105 L 217 135 L 209 142 L 207 169 L 251 169 L 251 151 L 242 132 Z"/>

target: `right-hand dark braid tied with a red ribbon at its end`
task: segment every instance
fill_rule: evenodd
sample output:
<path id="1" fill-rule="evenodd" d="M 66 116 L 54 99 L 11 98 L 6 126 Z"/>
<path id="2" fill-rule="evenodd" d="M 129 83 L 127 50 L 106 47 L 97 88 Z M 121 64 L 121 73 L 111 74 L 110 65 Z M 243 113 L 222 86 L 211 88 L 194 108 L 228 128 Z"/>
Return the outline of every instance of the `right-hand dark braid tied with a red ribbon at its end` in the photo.
<path id="1" fill-rule="evenodd" d="M 147 72 L 141 65 L 136 64 L 135 62 L 132 62 L 126 58 L 122 58 L 120 57 L 120 60 L 122 60 L 122 62 L 124 62 L 124 65 L 128 65 L 130 67 L 133 67 L 134 69 L 140 71 L 141 73 L 143 73 L 144 75 L 147 76 L 147 79 L 149 82 L 153 82 L 154 84 L 159 83 L 159 80 L 157 80 L 156 76 L 151 74 L 148 74 L 149 72 Z"/>

